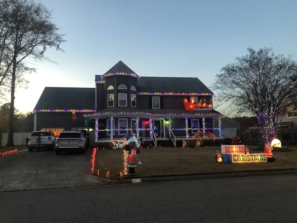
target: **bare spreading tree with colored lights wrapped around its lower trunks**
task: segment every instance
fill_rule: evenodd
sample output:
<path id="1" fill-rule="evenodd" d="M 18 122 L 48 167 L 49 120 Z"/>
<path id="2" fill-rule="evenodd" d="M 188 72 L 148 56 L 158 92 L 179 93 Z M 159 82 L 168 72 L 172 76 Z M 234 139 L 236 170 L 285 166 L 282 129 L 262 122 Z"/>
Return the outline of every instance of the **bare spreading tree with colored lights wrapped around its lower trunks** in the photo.
<path id="1" fill-rule="evenodd" d="M 275 55 L 272 48 L 247 50 L 221 69 L 213 88 L 220 103 L 257 116 L 263 137 L 271 142 L 282 115 L 296 104 L 297 63 L 292 56 Z"/>

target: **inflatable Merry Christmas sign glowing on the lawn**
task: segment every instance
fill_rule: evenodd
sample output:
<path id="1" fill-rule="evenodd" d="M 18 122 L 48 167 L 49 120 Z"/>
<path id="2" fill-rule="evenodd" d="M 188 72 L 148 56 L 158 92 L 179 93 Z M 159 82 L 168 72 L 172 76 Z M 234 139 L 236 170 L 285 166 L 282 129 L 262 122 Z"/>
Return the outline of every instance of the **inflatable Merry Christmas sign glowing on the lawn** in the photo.
<path id="1" fill-rule="evenodd" d="M 265 153 L 249 153 L 244 145 L 222 145 L 223 163 L 267 162 Z"/>

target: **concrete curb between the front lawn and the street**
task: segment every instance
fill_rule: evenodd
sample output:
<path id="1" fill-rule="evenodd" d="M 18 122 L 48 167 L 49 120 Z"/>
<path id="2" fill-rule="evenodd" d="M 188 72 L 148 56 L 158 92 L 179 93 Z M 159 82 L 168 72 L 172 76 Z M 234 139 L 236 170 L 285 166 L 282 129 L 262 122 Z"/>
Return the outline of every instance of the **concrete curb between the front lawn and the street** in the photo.
<path id="1" fill-rule="evenodd" d="M 218 173 L 218 174 L 204 174 L 204 175 L 187 175 L 187 176 L 172 176 L 172 177 L 123 179 L 123 180 L 118 180 L 117 183 L 118 184 L 154 183 L 154 182 L 166 182 L 166 181 L 203 180 L 203 179 L 217 179 L 217 178 L 287 175 L 287 174 L 297 174 L 297 169 L 293 169 L 293 170 L 277 170 L 277 171 Z"/>

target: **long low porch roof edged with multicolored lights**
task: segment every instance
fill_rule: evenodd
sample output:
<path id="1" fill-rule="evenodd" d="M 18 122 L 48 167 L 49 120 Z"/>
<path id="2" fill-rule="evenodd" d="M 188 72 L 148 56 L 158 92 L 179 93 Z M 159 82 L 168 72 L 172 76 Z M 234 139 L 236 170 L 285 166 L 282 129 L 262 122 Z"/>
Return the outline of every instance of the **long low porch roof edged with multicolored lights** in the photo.
<path id="1" fill-rule="evenodd" d="M 222 116 L 221 113 L 212 110 L 187 111 L 185 109 L 132 109 L 132 108 L 108 108 L 95 113 L 85 115 L 86 119 L 105 117 L 146 117 L 146 118 L 186 118 L 186 117 L 214 117 Z"/>

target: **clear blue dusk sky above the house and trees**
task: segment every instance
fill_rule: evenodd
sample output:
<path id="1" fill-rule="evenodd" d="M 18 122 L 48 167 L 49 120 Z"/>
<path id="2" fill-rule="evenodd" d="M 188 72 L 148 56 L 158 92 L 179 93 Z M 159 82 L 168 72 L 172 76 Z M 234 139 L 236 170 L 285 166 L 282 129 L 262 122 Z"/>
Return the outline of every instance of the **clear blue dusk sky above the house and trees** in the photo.
<path id="1" fill-rule="evenodd" d="M 139 76 L 198 77 L 209 87 L 247 47 L 297 52 L 296 0 L 41 2 L 66 34 L 66 53 L 47 52 L 59 65 L 35 62 L 29 88 L 16 95 L 23 112 L 33 110 L 44 87 L 95 87 L 95 74 L 119 60 Z"/>

